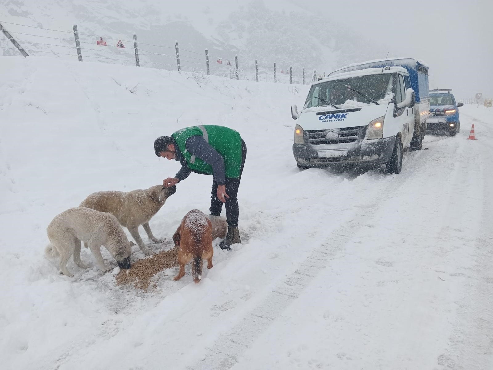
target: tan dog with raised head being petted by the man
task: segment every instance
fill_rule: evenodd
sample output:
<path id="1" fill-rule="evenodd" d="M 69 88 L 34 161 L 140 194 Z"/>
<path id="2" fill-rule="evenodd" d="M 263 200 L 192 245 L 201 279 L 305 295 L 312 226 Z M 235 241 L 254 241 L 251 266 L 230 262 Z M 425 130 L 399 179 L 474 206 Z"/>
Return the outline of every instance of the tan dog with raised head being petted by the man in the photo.
<path id="1" fill-rule="evenodd" d="M 149 221 L 161 209 L 168 197 L 176 192 L 176 186 L 164 187 L 155 185 L 148 189 L 137 189 L 129 192 L 98 191 L 89 195 L 80 207 L 88 207 L 101 212 L 113 214 L 118 221 L 128 228 L 141 251 L 149 256 L 151 251 L 144 245 L 139 234 L 139 226 L 144 227 L 150 240 L 162 243 L 152 235 Z"/>

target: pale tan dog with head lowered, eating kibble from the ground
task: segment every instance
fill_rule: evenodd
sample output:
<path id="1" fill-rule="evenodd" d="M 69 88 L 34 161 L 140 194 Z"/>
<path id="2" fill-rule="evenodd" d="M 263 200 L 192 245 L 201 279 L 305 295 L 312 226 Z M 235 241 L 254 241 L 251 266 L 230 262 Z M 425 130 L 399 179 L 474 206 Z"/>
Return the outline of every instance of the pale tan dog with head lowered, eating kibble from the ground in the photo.
<path id="1" fill-rule="evenodd" d="M 101 256 L 104 245 L 121 268 L 130 268 L 130 254 L 133 242 L 128 241 L 116 218 L 90 208 L 70 208 L 55 216 L 46 229 L 51 245 L 46 253 L 60 256 L 60 273 L 73 277 L 67 269 L 67 261 L 73 254 L 73 261 L 80 268 L 87 268 L 80 260 L 81 241 L 88 245 L 103 271 L 110 271 Z"/>

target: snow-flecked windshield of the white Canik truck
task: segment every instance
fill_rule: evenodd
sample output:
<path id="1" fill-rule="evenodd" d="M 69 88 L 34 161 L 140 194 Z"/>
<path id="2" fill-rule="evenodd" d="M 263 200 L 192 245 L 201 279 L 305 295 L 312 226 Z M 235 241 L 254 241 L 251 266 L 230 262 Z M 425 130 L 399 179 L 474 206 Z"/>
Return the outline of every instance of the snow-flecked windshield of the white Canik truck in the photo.
<path id="1" fill-rule="evenodd" d="M 308 93 L 305 108 L 325 107 L 331 102 L 336 105 L 353 104 L 354 102 L 374 104 L 371 99 L 358 94 L 358 90 L 376 101 L 388 98 L 391 100 L 394 78 L 392 74 L 370 74 L 350 78 L 337 79 L 313 85 Z M 350 86 L 351 89 L 348 89 Z"/>

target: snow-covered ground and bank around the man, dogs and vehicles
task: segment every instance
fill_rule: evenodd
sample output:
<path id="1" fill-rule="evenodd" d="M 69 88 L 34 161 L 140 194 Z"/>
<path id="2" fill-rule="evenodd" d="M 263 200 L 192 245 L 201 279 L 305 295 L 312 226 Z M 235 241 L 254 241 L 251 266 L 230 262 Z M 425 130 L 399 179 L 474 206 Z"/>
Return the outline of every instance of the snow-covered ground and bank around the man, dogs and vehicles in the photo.
<path id="1" fill-rule="evenodd" d="M 492 111 L 461 108 L 462 131 L 427 136 L 399 175 L 300 172 L 289 107 L 307 89 L 0 58 L 3 367 L 491 369 Z M 43 256 L 51 219 L 93 191 L 173 176 L 152 143 L 199 123 L 246 141 L 244 244 L 215 245 L 198 285 L 172 269 L 143 293 L 72 261 L 75 277 L 59 276 Z M 210 185 L 178 185 L 151 221 L 167 238 L 154 251 L 187 211 L 207 211 Z"/>

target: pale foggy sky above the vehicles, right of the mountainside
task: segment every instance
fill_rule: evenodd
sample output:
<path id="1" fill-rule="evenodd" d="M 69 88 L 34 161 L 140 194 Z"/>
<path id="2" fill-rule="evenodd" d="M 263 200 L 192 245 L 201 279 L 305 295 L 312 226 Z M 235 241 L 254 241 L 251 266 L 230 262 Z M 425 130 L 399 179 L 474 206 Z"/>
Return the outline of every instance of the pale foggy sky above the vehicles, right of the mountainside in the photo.
<path id="1" fill-rule="evenodd" d="M 292 0 L 318 16 L 353 27 L 389 56 L 429 64 L 430 88 L 453 88 L 456 98 L 493 97 L 493 2 Z M 385 58 L 376 55 L 377 58 Z M 358 62 L 358 61 L 355 61 Z"/>

